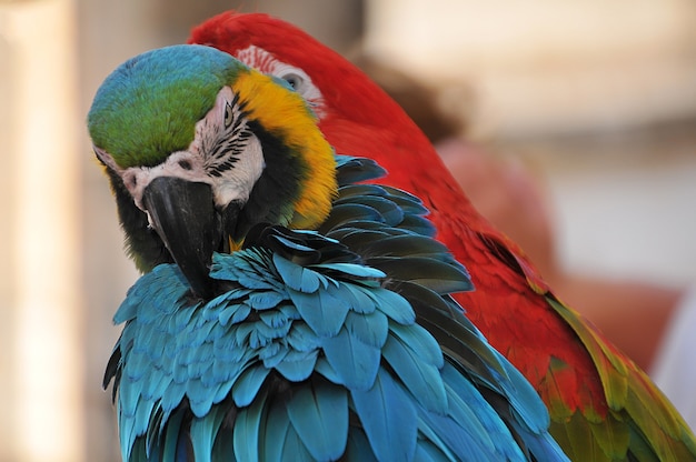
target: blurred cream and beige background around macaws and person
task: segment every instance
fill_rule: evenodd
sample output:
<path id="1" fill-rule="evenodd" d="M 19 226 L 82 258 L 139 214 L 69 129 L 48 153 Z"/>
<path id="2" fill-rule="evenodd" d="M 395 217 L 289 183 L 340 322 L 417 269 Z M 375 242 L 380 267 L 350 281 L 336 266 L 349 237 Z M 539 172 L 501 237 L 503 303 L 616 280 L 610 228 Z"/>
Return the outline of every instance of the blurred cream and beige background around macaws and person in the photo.
<path id="1" fill-rule="evenodd" d="M 0 461 L 118 460 L 101 375 L 138 274 L 84 118 L 119 63 L 230 8 L 438 88 L 534 165 L 565 267 L 696 281 L 693 0 L 0 0 Z"/>

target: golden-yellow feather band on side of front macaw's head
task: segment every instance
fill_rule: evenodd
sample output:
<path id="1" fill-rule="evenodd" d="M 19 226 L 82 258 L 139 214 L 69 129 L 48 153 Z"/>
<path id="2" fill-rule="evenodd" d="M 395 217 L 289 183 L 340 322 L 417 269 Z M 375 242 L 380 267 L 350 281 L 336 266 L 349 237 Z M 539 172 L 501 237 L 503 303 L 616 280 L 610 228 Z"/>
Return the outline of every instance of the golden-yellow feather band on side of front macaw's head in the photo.
<path id="1" fill-rule="evenodd" d="M 334 149 L 317 128 L 316 117 L 299 93 L 256 71 L 239 73 L 233 90 L 246 101 L 245 110 L 266 130 L 280 134 L 292 155 L 305 165 L 305 178 L 288 225 L 316 228 L 331 211 L 338 190 Z"/>

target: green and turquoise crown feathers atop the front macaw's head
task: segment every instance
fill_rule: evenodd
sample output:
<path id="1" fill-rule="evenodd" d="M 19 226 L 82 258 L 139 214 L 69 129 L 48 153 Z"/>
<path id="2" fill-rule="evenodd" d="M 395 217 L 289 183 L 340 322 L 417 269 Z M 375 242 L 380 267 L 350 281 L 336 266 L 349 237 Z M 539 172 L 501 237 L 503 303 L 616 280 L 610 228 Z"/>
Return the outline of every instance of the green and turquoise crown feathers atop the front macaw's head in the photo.
<path id="1" fill-rule="evenodd" d="M 132 58 L 95 96 L 88 116 L 95 145 L 121 168 L 156 165 L 185 150 L 220 89 L 248 69 L 216 49 L 168 47 Z"/>

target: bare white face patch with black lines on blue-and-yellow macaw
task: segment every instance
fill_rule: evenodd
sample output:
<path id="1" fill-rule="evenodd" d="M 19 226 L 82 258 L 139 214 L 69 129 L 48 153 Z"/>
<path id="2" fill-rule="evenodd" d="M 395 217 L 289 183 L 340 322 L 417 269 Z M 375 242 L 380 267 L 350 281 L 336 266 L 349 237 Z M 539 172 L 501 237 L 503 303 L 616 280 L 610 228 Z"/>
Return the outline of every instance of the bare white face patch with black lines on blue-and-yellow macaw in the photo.
<path id="1" fill-rule="evenodd" d="M 210 184 L 216 205 L 223 208 L 231 201 L 246 202 L 265 167 L 261 143 L 249 130 L 229 87 L 220 90 L 215 107 L 196 123 L 191 144 L 159 165 L 122 169 L 105 150 L 95 147 L 95 152 L 121 177 L 133 202 L 145 212 L 142 194 L 155 178 L 177 177 Z"/>

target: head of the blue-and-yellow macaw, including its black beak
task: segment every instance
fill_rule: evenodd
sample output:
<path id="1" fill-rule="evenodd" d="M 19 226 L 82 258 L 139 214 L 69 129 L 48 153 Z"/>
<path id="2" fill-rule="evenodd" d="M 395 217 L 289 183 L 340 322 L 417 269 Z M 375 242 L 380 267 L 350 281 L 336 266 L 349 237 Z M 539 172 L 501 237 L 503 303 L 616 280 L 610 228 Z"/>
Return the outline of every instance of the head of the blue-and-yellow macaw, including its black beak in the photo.
<path id="1" fill-rule="evenodd" d="M 121 64 L 88 128 L 137 267 L 176 262 L 198 297 L 212 294 L 213 252 L 258 223 L 316 227 L 336 194 L 332 148 L 304 99 L 209 47 Z"/>

